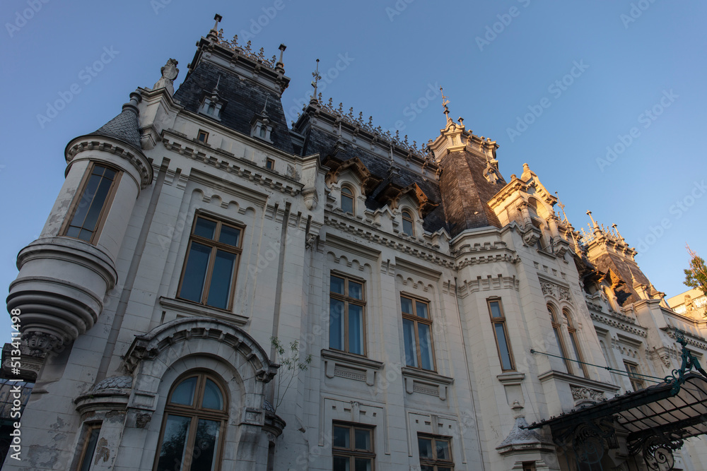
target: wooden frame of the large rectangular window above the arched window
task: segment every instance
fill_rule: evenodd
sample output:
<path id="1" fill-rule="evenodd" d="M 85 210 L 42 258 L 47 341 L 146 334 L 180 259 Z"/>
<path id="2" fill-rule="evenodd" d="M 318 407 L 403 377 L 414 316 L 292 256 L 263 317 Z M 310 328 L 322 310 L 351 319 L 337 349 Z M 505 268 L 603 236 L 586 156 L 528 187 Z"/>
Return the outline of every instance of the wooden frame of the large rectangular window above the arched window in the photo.
<path id="1" fill-rule="evenodd" d="M 206 239 L 206 237 L 194 234 L 194 230 L 197 227 L 197 220 L 205 219 L 211 222 L 216 222 L 216 227 L 214 228 L 214 239 Z M 218 237 L 221 235 L 221 228 L 223 225 L 230 227 L 232 229 L 238 229 L 240 234 L 238 236 L 238 247 L 225 244 L 223 242 L 218 242 Z M 180 282 L 177 286 L 177 298 L 182 299 L 186 302 L 192 302 L 194 304 L 199 304 L 200 306 L 209 306 L 212 309 L 219 309 L 221 311 L 230 312 L 233 309 L 233 297 L 235 296 L 235 283 L 238 281 L 238 266 L 240 265 L 240 258 L 243 254 L 243 237 L 245 236 L 245 226 L 238 223 L 226 222 L 218 217 L 214 217 L 208 214 L 197 212 L 194 214 L 194 220 L 192 222 L 192 230 L 189 232 L 189 241 L 187 242 L 187 252 L 184 256 L 184 263 L 182 264 L 182 273 L 180 275 Z M 209 253 L 209 263 L 206 266 L 206 274 L 204 275 L 203 287 L 201 290 L 201 301 L 197 302 L 193 299 L 187 299 L 182 297 L 182 288 L 185 282 L 185 273 L 187 272 L 187 264 L 189 263 L 189 255 L 192 251 L 192 242 L 197 242 L 197 244 L 206 245 L 211 248 Z M 235 261 L 233 262 L 233 280 L 231 280 L 230 288 L 228 291 L 228 305 L 226 308 L 221 308 L 218 306 L 211 306 L 211 304 L 206 304 L 209 300 L 209 290 L 211 288 L 211 277 L 214 275 L 214 263 L 216 261 L 216 254 L 218 250 L 226 251 L 229 254 L 235 254 Z"/>

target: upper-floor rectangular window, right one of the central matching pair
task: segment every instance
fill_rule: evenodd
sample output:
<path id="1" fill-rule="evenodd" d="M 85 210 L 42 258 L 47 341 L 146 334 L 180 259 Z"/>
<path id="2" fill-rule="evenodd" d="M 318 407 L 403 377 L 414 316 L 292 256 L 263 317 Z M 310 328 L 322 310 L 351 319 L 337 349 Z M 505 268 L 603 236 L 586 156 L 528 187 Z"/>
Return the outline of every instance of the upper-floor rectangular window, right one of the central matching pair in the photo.
<path id="1" fill-rule="evenodd" d="M 435 371 L 429 303 L 423 299 L 401 294 L 400 309 L 405 342 L 405 364 Z"/>

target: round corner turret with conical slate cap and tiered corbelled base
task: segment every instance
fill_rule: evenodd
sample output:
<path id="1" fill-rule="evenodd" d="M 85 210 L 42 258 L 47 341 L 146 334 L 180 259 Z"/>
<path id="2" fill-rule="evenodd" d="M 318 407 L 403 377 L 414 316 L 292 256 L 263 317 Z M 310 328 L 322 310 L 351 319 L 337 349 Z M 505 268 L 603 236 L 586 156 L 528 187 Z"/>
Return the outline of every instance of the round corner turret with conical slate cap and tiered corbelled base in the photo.
<path id="1" fill-rule="evenodd" d="M 33 354 L 75 340 L 103 310 L 115 261 L 141 189 L 153 178 L 142 153 L 139 93 L 94 133 L 66 145 L 66 180 L 39 239 L 20 251 L 8 311 L 19 309 Z"/>

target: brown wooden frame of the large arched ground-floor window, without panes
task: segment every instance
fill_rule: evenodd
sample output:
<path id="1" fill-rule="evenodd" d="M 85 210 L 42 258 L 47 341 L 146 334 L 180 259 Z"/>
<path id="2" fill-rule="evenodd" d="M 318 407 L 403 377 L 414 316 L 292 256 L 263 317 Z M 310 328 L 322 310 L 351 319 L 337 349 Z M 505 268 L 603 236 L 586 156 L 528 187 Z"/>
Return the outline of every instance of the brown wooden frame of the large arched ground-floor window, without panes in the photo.
<path id="1" fill-rule="evenodd" d="M 182 404 L 172 404 L 172 396 L 175 390 L 182 383 L 190 378 L 197 378 L 197 385 L 194 386 L 194 398 L 192 399 L 193 405 L 187 406 Z M 221 392 L 221 398 L 223 399 L 222 410 L 207 409 L 206 407 L 199 406 L 201 400 L 204 398 L 204 386 L 206 385 L 206 380 L 210 379 L 213 381 Z M 167 401 L 163 410 L 162 425 L 160 427 L 160 435 L 158 436 L 158 445 L 155 451 L 155 460 L 153 464 L 153 471 L 158 470 L 158 465 L 160 464 L 160 453 L 162 451 L 163 440 L 165 435 L 165 427 L 170 415 L 176 417 L 189 417 L 189 433 L 185 438 L 185 446 L 183 456 L 184 461 L 180 463 L 180 471 L 188 470 L 192 465 L 192 459 L 194 458 L 194 446 L 197 434 L 197 424 L 199 419 L 211 420 L 214 422 L 220 422 L 219 433 L 218 433 L 218 443 L 215 443 L 214 449 L 214 471 L 221 470 L 221 460 L 223 458 L 223 448 L 226 442 L 226 429 L 228 427 L 228 394 L 226 393 L 226 387 L 223 385 L 221 378 L 218 378 L 215 374 L 206 370 L 191 370 L 184 374 L 181 374 L 170 387 L 170 392 L 167 395 Z"/>

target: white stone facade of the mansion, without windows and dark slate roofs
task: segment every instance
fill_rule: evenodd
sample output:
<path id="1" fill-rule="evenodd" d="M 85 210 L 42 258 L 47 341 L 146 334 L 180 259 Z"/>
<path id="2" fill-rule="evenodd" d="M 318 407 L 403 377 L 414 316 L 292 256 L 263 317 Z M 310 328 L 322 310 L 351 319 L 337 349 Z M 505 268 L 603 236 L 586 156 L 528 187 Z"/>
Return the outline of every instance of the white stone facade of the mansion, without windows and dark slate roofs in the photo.
<path id="1" fill-rule="evenodd" d="M 258 66 L 245 52 L 233 52 L 233 60 L 219 47 L 212 31 L 197 52 L 199 63 L 222 71 L 219 93 L 229 73 L 254 90 L 286 86 L 281 61 Z M 641 282 L 635 252 L 618 234 L 597 225 L 580 241 L 530 167 L 508 184 L 496 181 L 497 146 L 461 123 L 448 120 L 431 156 L 406 155 L 402 143 L 377 141 L 353 117 L 314 100 L 319 111 L 295 130 L 275 126 L 261 139 L 250 132 L 255 114 L 243 117 L 244 131 L 225 124 L 227 112 L 238 112 L 237 97 L 205 90 L 209 103 L 220 103 L 221 119 L 212 119 L 204 107 L 190 111 L 175 100 L 172 78 L 139 89 L 129 104 L 138 112 L 139 144 L 100 130 L 69 143 L 64 187 L 40 239 L 21 253 L 8 308 L 27 316 L 27 352 L 34 349 L 43 366 L 23 413 L 23 460 L 8 459 L 4 469 L 80 469 L 91 427 L 100 431 L 90 470 L 156 469 L 168 393 L 189 372 L 216 378 L 226 398 L 214 468 L 221 471 L 332 470 L 337 424 L 370 431 L 378 470 L 419 470 L 419 436 L 448 439 L 455 470 L 575 469 L 567 446 L 547 430 L 519 426 L 632 390 L 620 373 L 627 364 L 669 375 L 680 366 L 670 328 L 684 330 L 704 358 L 706 322 L 672 311 Z M 262 109 L 270 107 L 281 109 Z M 329 155 L 298 153 L 312 129 L 338 138 L 336 149 L 366 149 L 386 168 L 437 186 L 441 172 L 455 172 L 443 168 L 448 153 L 485 159 L 484 177 L 498 192 L 484 204 L 498 226 L 426 230 L 431 200 L 419 186 L 369 208 L 373 188 L 385 184 L 374 181 L 380 175 L 360 161 L 332 169 Z M 208 133 L 204 141 L 200 132 Z M 293 152 L 278 146 L 277 132 L 296 143 Z M 112 200 L 91 242 L 66 237 L 76 194 L 96 162 L 120 173 Z M 342 188 L 354 193 L 351 213 L 341 209 Z M 403 210 L 414 216 L 411 234 Z M 226 309 L 180 295 L 199 216 L 240 229 Z M 592 265 L 605 254 L 641 279 Z M 332 275 L 362 285 L 361 323 L 350 321 L 345 335 L 354 342 L 351 329 L 362 329 L 363 354 L 330 345 Z M 613 275 L 636 299 L 617 301 L 621 283 Z M 429 326 L 429 369 L 406 355 L 401 295 L 427 306 L 416 326 Z M 497 340 L 503 329 L 506 360 Z M 311 355 L 308 368 L 278 368 L 273 337 L 285 346 L 299 342 L 298 361 Z M 289 376 L 285 390 L 279 378 Z M 700 441 L 676 458 L 675 469 L 707 469 Z M 626 459 L 625 449 L 607 452 L 603 469 L 629 469 L 621 467 Z"/>

